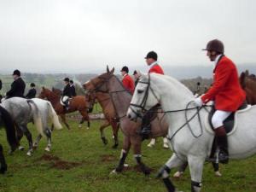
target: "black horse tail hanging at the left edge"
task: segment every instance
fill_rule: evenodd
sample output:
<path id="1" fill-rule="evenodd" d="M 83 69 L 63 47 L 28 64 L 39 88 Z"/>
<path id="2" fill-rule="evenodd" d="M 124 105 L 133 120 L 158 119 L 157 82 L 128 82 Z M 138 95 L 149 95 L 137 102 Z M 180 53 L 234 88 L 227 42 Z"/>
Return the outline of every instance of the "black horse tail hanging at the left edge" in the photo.
<path id="1" fill-rule="evenodd" d="M 12 117 L 10 116 L 9 112 L 0 106 L 0 113 L 3 119 L 4 128 L 6 131 L 6 137 L 9 145 L 11 146 L 12 150 L 14 151 L 15 148 L 19 146 L 19 143 L 17 141 L 16 137 L 16 131 L 15 131 L 15 123 Z"/>

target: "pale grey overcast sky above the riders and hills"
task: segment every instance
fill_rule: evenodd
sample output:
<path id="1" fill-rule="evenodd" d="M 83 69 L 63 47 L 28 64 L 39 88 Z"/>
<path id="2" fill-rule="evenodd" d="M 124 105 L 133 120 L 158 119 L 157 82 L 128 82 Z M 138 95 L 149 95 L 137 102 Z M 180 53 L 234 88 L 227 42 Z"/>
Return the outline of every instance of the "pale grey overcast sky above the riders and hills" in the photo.
<path id="1" fill-rule="evenodd" d="M 210 65 L 212 38 L 239 65 L 256 61 L 254 0 L 0 0 L 0 71 L 90 73 L 106 64 Z"/>

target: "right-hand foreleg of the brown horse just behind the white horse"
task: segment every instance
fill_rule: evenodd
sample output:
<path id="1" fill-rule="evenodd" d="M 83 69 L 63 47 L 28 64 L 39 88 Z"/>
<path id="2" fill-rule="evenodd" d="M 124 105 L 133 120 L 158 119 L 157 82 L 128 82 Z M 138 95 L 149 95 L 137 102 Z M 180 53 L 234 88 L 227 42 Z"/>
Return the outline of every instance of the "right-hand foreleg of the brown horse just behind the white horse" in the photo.
<path id="1" fill-rule="evenodd" d="M 131 137 L 131 144 L 133 146 L 133 156 L 139 166 L 140 170 L 145 174 L 150 174 L 150 168 L 146 166 L 142 161 L 142 138 L 141 137 Z"/>

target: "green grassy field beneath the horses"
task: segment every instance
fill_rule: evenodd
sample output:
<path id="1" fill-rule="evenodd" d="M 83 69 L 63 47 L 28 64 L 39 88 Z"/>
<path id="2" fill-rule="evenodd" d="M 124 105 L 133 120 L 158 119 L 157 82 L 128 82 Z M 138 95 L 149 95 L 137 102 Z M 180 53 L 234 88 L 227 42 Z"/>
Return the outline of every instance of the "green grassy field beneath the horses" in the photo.
<path id="1" fill-rule="evenodd" d="M 109 173 L 119 160 L 118 149 L 111 148 L 113 141 L 111 130 L 107 129 L 108 145 L 100 140 L 100 122 L 94 121 L 90 130 L 79 129 L 78 123 L 70 122 L 72 130 L 53 132 L 53 146 L 50 153 L 44 152 L 46 141 L 43 138 L 32 157 L 26 151 L 6 154 L 9 146 L 3 129 L 0 131 L 0 143 L 3 143 L 9 170 L 0 176 L 0 191 L 6 192 L 60 192 L 60 191 L 96 191 L 96 192 L 158 192 L 166 191 L 163 183 L 156 179 L 155 173 L 171 155 L 169 150 L 161 148 L 162 142 L 155 148 L 147 148 L 143 143 L 143 160 L 152 167 L 150 177 L 137 172 L 132 154 L 127 163 L 130 168 L 118 175 Z M 30 125 L 33 138 L 36 131 Z M 122 134 L 119 134 L 120 141 Z M 27 148 L 26 139 L 22 144 Z M 212 166 L 206 164 L 204 169 L 203 189 L 205 192 L 255 192 L 256 191 L 256 157 L 242 161 L 231 161 L 228 166 L 221 166 L 223 177 L 214 177 Z M 180 180 L 174 180 L 178 189 L 190 191 L 189 172 Z"/>

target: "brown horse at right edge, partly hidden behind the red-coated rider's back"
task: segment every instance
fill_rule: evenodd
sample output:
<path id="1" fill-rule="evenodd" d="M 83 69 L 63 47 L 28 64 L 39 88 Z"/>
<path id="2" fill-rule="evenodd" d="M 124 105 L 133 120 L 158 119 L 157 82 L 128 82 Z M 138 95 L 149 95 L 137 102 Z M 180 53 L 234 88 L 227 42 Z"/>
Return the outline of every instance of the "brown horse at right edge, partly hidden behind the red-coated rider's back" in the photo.
<path id="1" fill-rule="evenodd" d="M 256 104 L 256 78 L 255 75 L 249 74 L 246 70 L 242 72 L 240 75 L 240 84 L 241 88 L 245 90 L 247 94 L 247 102 L 248 104 L 255 105 Z"/>

